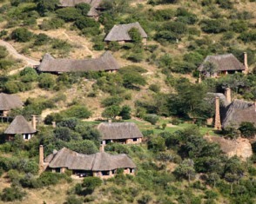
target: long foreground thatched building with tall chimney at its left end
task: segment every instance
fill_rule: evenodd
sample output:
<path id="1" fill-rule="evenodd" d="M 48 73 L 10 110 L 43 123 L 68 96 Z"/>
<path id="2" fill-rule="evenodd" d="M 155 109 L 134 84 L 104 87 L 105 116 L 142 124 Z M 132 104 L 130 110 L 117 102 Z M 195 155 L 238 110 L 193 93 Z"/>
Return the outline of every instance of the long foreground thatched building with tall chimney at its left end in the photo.
<path id="1" fill-rule="evenodd" d="M 93 155 L 84 155 L 62 148 L 48 155 L 44 160 L 44 148 L 41 145 L 39 150 L 39 168 L 51 170 L 52 172 L 64 173 L 66 169 L 78 176 L 97 176 L 107 179 L 115 174 L 120 168 L 124 174 L 134 174 L 136 165 L 125 155 L 110 155 L 105 152 Z"/>

